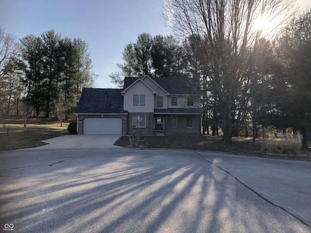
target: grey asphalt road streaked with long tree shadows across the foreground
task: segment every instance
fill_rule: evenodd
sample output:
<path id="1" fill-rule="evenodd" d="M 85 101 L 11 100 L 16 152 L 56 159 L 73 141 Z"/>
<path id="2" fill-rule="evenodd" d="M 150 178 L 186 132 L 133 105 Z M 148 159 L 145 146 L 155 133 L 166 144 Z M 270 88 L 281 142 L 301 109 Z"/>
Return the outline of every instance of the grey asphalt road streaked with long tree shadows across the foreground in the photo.
<path id="1" fill-rule="evenodd" d="M 0 152 L 0 225 L 21 233 L 310 233 L 311 162 L 194 150 Z"/>

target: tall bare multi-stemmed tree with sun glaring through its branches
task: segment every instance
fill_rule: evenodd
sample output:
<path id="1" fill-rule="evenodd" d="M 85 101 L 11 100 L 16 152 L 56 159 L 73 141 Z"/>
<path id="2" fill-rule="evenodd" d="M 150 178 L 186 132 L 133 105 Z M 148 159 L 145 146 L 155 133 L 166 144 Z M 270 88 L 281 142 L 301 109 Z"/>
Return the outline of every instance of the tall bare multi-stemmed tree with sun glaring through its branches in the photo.
<path id="1" fill-rule="evenodd" d="M 288 20 L 294 1 L 166 0 L 164 9 L 173 32 L 195 38 L 201 72 L 208 77 L 209 96 L 221 117 L 223 143 L 231 143 L 249 103 L 253 70 L 249 60 L 263 33 L 255 26 L 257 19 L 265 15 L 278 24 Z"/>

